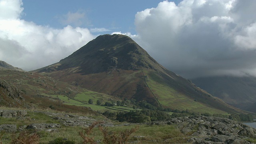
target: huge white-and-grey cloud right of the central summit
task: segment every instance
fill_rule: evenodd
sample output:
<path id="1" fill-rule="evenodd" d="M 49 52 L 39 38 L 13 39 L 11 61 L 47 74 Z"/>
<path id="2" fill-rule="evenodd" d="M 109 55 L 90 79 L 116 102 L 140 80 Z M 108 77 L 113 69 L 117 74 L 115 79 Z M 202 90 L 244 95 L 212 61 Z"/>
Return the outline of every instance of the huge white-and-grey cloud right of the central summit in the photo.
<path id="1" fill-rule="evenodd" d="M 138 43 L 187 78 L 256 68 L 255 0 L 163 1 L 137 12 Z"/>

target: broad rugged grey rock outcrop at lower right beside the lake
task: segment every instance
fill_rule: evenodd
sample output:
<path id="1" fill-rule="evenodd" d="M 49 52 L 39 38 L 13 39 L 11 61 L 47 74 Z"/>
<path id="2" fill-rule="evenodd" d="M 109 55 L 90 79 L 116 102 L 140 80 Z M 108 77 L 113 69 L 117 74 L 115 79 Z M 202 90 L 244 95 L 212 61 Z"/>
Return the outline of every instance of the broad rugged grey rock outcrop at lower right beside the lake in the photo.
<path id="1" fill-rule="evenodd" d="M 192 144 L 250 144 L 247 140 L 256 138 L 256 129 L 226 118 L 190 116 L 150 124 L 176 125 Z"/>

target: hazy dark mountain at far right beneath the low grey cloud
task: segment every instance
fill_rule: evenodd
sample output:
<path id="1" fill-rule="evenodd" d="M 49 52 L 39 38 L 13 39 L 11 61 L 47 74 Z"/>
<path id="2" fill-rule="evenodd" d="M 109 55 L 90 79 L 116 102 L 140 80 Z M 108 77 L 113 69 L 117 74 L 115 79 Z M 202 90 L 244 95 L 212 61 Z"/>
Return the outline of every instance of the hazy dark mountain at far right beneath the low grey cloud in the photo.
<path id="1" fill-rule="evenodd" d="M 250 105 L 253 107 L 256 103 L 256 77 L 254 76 L 215 76 L 196 78 L 192 82 L 232 106 L 256 112 L 255 109 L 250 108 Z"/>

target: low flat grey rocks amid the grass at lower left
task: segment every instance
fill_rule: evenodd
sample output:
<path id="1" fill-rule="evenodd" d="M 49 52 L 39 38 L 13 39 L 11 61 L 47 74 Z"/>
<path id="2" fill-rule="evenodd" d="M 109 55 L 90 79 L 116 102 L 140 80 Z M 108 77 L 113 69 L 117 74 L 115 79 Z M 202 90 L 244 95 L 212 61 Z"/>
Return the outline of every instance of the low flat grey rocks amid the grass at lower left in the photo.
<path id="1" fill-rule="evenodd" d="M 56 123 L 33 123 L 24 126 L 16 126 L 16 124 L 2 124 L 0 125 L 0 131 L 5 132 L 17 132 L 23 130 L 46 130 L 48 132 L 58 131 L 58 128 L 62 126 L 84 126 L 88 127 L 96 120 L 87 116 L 77 116 L 72 114 L 43 112 L 43 111 L 30 111 L 34 113 L 42 113 L 50 116 Z M 29 117 L 26 110 L 0 110 L 0 117 L 2 118 L 26 118 Z M 105 122 L 105 126 L 114 126 L 111 122 Z"/>

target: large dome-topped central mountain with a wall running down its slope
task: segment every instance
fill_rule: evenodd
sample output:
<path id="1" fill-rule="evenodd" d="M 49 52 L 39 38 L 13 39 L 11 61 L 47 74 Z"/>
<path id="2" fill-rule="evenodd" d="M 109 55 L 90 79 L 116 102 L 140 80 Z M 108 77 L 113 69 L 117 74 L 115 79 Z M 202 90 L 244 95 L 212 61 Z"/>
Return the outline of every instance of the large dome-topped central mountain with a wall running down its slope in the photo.
<path id="1" fill-rule="evenodd" d="M 32 72 L 122 99 L 193 112 L 237 113 L 219 98 L 167 70 L 131 38 L 102 35 L 55 64 Z"/>

